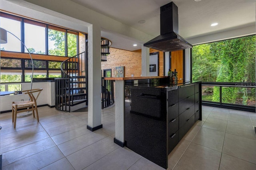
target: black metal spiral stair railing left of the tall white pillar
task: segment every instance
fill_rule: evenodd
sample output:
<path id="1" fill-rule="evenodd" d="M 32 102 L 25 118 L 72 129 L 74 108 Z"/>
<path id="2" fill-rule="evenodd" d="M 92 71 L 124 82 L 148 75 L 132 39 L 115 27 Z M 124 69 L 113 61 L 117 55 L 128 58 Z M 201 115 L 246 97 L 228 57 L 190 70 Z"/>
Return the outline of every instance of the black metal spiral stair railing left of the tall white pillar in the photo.
<path id="1" fill-rule="evenodd" d="M 85 52 L 83 52 L 62 62 L 62 78 L 55 79 L 57 110 L 70 111 L 70 106 L 84 102 L 87 105 L 86 61 Z"/>

